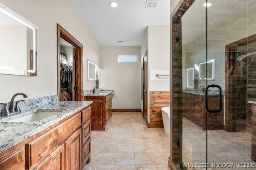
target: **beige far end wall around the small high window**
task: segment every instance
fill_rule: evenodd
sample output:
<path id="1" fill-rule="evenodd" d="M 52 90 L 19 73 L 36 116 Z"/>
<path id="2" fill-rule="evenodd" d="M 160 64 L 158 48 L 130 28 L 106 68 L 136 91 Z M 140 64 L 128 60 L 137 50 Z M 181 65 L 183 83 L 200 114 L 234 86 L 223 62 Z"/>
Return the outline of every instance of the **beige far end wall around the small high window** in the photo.
<path id="1" fill-rule="evenodd" d="M 122 54 L 138 55 L 138 62 L 118 63 Z M 102 47 L 101 63 L 102 88 L 114 90 L 113 109 L 140 109 L 140 47 Z"/>

